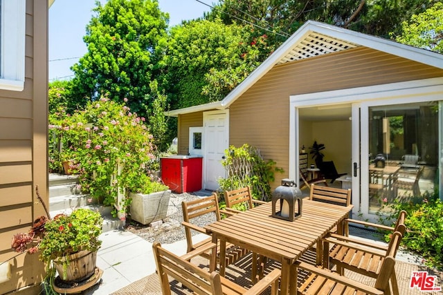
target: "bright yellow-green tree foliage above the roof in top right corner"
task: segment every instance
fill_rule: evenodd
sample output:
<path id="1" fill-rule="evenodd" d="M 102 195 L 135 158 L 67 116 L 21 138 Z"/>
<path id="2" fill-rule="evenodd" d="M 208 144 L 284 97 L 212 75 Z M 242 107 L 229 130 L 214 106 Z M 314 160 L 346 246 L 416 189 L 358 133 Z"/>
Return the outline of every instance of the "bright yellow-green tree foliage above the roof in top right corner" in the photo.
<path id="1" fill-rule="evenodd" d="M 396 40 L 403 44 L 443 53 L 443 3 L 435 5 L 410 21 L 401 23 Z"/>

